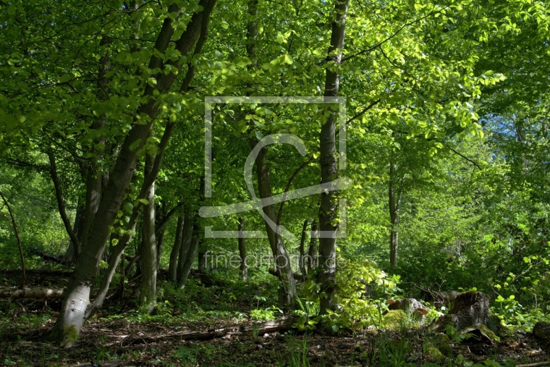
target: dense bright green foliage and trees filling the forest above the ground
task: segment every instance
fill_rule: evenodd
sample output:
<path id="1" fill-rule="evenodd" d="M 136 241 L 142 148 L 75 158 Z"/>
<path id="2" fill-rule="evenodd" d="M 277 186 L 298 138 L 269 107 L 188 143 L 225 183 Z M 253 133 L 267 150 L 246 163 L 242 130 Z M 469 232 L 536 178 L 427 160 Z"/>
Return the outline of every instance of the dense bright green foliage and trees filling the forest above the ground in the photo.
<path id="1" fill-rule="evenodd" d="M 44 254 L 76 264 L 52 338 L 72 345 L 109 285 L 124 294 L 140 276 L 138 304 L 173 307 L 155 304 L 168 268 L 190 297 L 191 268 L 279 287 L 251 315 L 298 310 L 302 329 L 382 325 L 381 300 L 467 289 L 506 324 L 548 318 L 549 13 L 536 0 L 0 1 L 0 191 L 28 268 Z M 283 98 L 219 99 L 210 128 L 212 96 Z M 322 96 L 340 99 L 284 100 Z M 243 177 L 272 134 L 299 143 L 267 146 Z M 348 186 L 199 211 L 337 178 Z M 345 236 L 317 241 L 318 226 Z M 0 252 L 21 266 L 5 205 Z M 300 263 L 317 252 L 336 273 Z"/>

